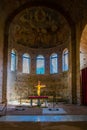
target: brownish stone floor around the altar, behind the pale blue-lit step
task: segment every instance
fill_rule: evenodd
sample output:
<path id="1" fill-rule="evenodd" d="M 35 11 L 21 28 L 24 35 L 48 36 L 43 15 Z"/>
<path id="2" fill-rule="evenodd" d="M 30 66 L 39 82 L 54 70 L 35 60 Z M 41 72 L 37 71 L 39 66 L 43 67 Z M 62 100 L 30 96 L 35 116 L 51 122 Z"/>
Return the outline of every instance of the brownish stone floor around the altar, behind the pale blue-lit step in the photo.
<path id="1" fill-rule="evenodd" d="M 8 105 L 7 106 L 7 115 L 43 115 L 43 106 L 42 107 L 30 107 L 29 105 Z M 81 105 L 73 105 L 73 104 L 64 104 L 64 103 L 58 103 L 58 104 L 52 104 L 48 103 L 49 109 L 63 109 L 65 112 L 56 113 L 59 111 L 52 111 L 52 114 L 62 114 L 62 115 L 87 115 L 87 106 L 81 106 Z M 45 113 L 47 114 L 47 113 Z"/>

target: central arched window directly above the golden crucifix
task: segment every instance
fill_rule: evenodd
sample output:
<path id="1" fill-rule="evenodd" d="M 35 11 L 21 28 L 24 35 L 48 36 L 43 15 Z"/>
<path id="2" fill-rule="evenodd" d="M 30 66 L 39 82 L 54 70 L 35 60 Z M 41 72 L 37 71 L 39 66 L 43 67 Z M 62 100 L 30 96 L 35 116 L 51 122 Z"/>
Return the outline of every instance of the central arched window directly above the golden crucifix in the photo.
<path id="1" fill-rule="evenodd" d="M 45 58 L 42 55 L 37 56 L 36 58 L 36 74 L 45 73 Z"/>

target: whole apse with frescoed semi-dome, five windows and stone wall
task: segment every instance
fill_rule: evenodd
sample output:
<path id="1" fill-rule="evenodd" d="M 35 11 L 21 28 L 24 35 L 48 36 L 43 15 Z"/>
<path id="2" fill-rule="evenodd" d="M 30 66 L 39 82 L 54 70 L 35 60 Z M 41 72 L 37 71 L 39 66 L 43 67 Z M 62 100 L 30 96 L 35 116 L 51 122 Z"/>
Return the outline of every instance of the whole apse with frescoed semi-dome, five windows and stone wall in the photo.
<path id="1" fill-rule="evenodd" d="M 60 12 L 44 6 L 18 12 L 8 36 L 8 102 L 36 95 L 38 81 L 46 85 L 41 95 L 69 101 L 70 43 L 70 27 Z"/>

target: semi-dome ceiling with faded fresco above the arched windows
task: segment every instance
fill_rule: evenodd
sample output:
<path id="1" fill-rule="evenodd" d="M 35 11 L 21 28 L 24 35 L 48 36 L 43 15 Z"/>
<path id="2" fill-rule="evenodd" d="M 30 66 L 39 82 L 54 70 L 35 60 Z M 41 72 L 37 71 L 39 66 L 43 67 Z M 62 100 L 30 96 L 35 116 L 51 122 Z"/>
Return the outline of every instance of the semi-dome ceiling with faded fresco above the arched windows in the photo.
<path id="1" fill-rule="evenodd" d="M 10 42 L 30 48 L 52 48 L 70 39 L 70 29 L 64 16 L 47 7 L 22 10 L 9 29 Z"/>

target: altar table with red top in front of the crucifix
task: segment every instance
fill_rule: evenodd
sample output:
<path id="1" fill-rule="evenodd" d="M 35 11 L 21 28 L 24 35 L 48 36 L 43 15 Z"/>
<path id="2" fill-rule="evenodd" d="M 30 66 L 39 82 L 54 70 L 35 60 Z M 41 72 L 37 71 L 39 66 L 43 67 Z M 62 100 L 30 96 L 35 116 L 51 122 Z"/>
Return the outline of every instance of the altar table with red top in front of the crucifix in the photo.
<path id="1" fill-rule="evenodd" d="M 29 99 L 30 99 L 30 105 L 31 106 L 32 106 L 32 103 L 33 103 L 33 99 L 37 99 L 37 106 L 41 106 L 40 100 L 45 99 L 45 107 L 47 107 L 48 96 L 29 96 Z"/>

